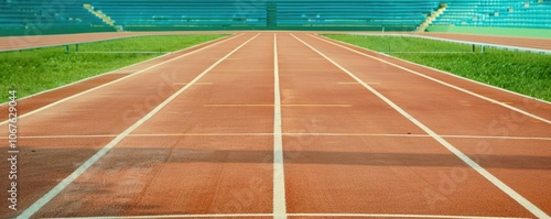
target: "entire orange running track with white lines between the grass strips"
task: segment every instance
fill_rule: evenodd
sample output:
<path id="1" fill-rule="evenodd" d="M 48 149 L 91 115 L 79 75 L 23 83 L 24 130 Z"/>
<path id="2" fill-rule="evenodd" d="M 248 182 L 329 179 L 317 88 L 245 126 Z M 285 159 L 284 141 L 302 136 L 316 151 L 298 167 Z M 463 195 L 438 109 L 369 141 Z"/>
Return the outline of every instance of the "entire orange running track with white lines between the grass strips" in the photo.
<path id="1" fill-rule="evenodd" d="M 2 218 L 551 215 L 550 103 L 309 33 L 236 34 L 19 107 Z"/>

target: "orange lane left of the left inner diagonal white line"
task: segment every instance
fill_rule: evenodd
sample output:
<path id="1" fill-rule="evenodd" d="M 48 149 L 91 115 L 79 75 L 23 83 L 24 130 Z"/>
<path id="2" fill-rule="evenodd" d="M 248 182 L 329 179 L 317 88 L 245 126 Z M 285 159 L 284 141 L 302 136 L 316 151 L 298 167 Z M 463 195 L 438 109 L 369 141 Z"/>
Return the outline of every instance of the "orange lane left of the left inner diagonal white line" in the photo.
<path id="1" fill-rule="evenodd" d="M 183 72 L 159 72 L 153 68 L 150 72 L 134 76 L 128 80 L 121 80 L 118 84 L 105 86 L 101 89 L 96 89 L 80 98 L 75 98 L 69 101 L 62 102 L 55 107 L 34 113 L 19 120 L 20 135 L 58 135 L 58 134 L 119 134 L 132 122 L 138 121 L 141 117 L 159 105 L 162 99 L 168 98 L 179 88 L 174 88 L 172 83 L 193 78 L 198 75 L 202 68 L 216 62 L 213 57 L 222 57 L 226 46 L 233 47 L 242 43 L 245 37 L 237 37 L 223 43 L 223 46 L 217 48 L 208 48 L 199 53 L 195 53 L 194 61 L 185 61 L 180 64 L 185 66 L 173 65 L 174 69 L 181 68 Z M 203 62 L 197 62 L 203 59 Z M 186 63 L 187 62 L 187 63 Z M 166 69 L 165 69 L 166 70 Z M 172 74 L 174 73 L 174 74 Z M 165 75 L 163 77 L 163 74 Z M 144 85 L 148 85 L 144 87 Z M 145 102 L 153 99 L 155 101 Z M 139 109 L 139 110 L 138 110 Z M 2 130 L 7 130 L 6 125 L 0 125 Z M 2 131 L 6 135 L 6 131 Z M 106 145 L 114 138 L 105 138 L 101 141 L 88 140 L 94 144 L 88 144 L 80 140 L 52 140 L 52 141 L 25 141 L 22 139 L 19 142 L 21 153 L 19 169 L 22 178 L 19 180 L 21 190 L 18 195 L 22 198 L 20 209 L 25 209 L 35 199 L 47 189 L 52 188 L 64 177 L 53 177 L 48 182 L 42 182 L 43 175 L 52 174 L 54 176 L 67 176 L 90 154 L 97 152 L 101 146 Z M 97 143 L 97 144 L 96 144 Z M 86 149 L 83 149 L 86 146 Z M 63 150 L 62 150 L 63 149 Z M 34 150 L 35 152 L 33 152 Z M 77 158 L 63 158 L 67 154 L 74 154 Z M 55 157 L 55 160 L 53 160 Z M 43 169 L 48 172 L 35 172 L 34 166 L 43 166 Z M 0 169 L 8 173 L 9 166 L 2 166 Z M 24 180 L 23 180 L 24 179 Z M 2 180 L 2 186 L 8 187 L 7 180 Z M 1 211 L 2 217 L 13 217 L 9 211 Z M 8 215 L 9 213 L 9 215 Z"/>

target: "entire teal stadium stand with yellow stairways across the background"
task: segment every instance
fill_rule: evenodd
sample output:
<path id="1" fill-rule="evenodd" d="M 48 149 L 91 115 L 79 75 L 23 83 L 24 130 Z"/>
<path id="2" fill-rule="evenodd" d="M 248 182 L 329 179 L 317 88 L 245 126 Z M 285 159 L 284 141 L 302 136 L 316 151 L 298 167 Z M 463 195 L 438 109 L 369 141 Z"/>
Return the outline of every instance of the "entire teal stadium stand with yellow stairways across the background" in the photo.
<path id="1" fill-rule="evenodd" d="M 0 35 L 104 31 L 551 28 L 551 0 L 0 0 Z M 444 6 L 444 7 L 443 7 Z"/>

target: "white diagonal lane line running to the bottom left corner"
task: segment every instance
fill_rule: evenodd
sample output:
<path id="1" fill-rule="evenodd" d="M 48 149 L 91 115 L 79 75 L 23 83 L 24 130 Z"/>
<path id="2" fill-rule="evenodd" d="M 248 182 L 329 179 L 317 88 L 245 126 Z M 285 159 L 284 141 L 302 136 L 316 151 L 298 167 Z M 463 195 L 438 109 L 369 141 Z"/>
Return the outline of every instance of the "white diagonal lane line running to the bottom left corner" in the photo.
<path id="1" fill-rule="evenodd" d="M 169 105 L 173 99 L 175 99 L 177 96 L 180 96 L 182 92 L 184 92 L 187 88 L 193 86 L 193 84 L 197 83 L 203 76 L 205 76 L 208 72 L 210 72 L 213 68 L 215 68 L 218 64 L 224 62 L 227 57 L 233 55 L 235 52 L 237 52 L 239 48 L 245 46 L 247 43 L 256 39 L 259 34 L 255 35 L 253 37 L 249 39 L 241 45 L 239 45 L 237 48 L 233 50 L 230 53 L 228 53 L 226 56 L 222 57 L 218 62 L 215 64 L 210 65 L 207 69 L 203 70 L 195 79 L 193 79 L 190 84 L 187 84 L 185 87 L 181 88 L 177 90 L 175 94 L 170 96 L 166 100 L 164 100 L 161 105 L 156 106 L 155 109 L 151 110 L 148 114 L 145 114 L 143 118 L 141 118 L 139 121 L 133 123 L 131 127 L 129 127 L 127 130 L 125 130 L 122 133 L 117 135 L 111 142 L 109 142 L 107 145 L 105 145 L 101 150 L 96 152 L 94 156 L 88 158 L 85 163 L 83 163 L 75 172 L 73 172 L 69 176 L 67 176 L 65 179 L 63 179 L 60 184 L 57 184 L 54 188 L 52 188 L 47 194 L 42 196 L 39 200 L 36 200 L 31 207 L 29 207 L 25 211 L 23 211 L 20 216 L 18 216 L 18 219 L 24 219 L 24 218 L 30 218 L 33 216 L 36 211 L 39 211 L 44 205 L 46 205 L 50 200 L 52 200 L 57 194 L 60 194 L 65 187 L 67 187 L 73 180 L 78 178 L 88 167 L 90 167 L 94 163 L 96 163 L 101 156 L 104 156 L 109 150 L 111 150 L 115 145 L 117 145 L 120 141 L 122 141 L 130 132 L 134 131 L 143 124 L 145 121 L 148 121 L 150 118 L 152 118 L 156 112 L 159 112 L 161 109 L 163 109 L 166 105 Z"/>

